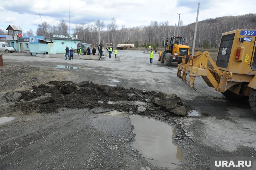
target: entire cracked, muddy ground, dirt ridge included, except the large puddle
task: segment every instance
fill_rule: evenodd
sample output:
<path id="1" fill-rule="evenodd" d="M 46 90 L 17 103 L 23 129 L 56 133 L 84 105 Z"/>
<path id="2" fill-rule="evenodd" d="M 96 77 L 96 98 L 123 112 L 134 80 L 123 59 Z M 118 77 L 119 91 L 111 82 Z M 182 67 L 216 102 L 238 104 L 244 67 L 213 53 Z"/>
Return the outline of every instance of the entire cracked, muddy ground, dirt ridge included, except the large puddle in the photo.
<path id="1" fill-rule="evenodd" d="M 200 77 L 198 91 L 190 89 L 176 76 L 177 64 L 165 67 L 158 54 L 153 65 L 142 51 L 118 54 L 126 59 L 4 54 L 0 117 L 10 121 L 0 118 L 1 169 L 210 169 L 211 157 L 255 157 L 249 101 L 227 100 Z M 182 110 L 185 116 L 178 116 Z M 178 163 L 133 147 L 135 114 L 173 129 L 169 142 L 181 149 Z"/>

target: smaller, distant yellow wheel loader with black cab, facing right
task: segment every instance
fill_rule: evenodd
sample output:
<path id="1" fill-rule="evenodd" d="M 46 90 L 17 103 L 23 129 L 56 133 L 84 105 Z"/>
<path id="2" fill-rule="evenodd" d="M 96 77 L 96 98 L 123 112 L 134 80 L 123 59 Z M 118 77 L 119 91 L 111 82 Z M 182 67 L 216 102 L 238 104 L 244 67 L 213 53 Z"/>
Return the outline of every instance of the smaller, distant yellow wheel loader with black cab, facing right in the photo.
<path id="1" fill-rule="evenodd" d="M 159 52 L 158 61 L 165 66 L 171 66 L 172 62 L 181 63 L 182 57 L 189 53 L 189 46 L 184 45 L 184 37 L 170 37 L 166 39 L 165 50 Z"/>

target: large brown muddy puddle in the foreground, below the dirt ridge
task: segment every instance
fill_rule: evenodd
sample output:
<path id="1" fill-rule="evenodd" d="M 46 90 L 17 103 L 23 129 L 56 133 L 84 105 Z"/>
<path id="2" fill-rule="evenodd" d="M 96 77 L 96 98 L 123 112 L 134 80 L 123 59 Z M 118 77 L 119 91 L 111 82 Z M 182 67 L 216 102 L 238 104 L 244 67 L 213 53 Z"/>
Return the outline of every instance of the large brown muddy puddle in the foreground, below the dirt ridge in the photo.
<path id="1" fill-rule="evenodd" d="M 183 154 L 172 142 L 175 133 L 170 125 L 139 115 L 131 115 L 130 120 L 136 134 L 133 148 L 156 166 L 176 168 L 181 163 Z"/>

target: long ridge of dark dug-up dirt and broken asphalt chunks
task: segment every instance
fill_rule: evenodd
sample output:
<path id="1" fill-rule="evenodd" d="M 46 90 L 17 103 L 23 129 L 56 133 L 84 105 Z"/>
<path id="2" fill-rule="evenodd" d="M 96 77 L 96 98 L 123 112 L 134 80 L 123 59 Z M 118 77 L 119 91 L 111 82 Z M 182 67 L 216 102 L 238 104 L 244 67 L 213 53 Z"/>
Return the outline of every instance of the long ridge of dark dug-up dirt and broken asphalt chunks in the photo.
<path id="1" fill-rule="evenodd" d="M 94 84 L 91 81 L 73 83 L 72 81 L 50 81 L 30 90 L 8 92 L 5 95 L 12 111 L 29 114 L 57 113 L 60 108 L 127 111 L 143 114 L 145 111 L 166 115 L 186 116 L 186 106 L 176 95 L 166 95 L 154 91 L 126 89 Z"/>

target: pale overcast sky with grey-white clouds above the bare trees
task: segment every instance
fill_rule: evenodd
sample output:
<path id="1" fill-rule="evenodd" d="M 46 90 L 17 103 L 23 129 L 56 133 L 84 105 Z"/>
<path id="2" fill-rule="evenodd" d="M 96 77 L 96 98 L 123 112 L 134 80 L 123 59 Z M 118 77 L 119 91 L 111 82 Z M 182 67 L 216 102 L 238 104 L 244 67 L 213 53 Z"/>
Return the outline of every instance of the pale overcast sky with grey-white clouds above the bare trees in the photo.
<path id="1" fill-rule="evenodd" d="M 81 23 L 95 24 L 103 20 L 105 26 L 115 17 L 119 27 L 147 26 L 151 21 L 178 25 L 179 15 L 184 25 L 196 21 L 198 0 L 0 0 L 0 29 L 19 25 L 26 33 L 42 21 L 58 25 L 63 19 L 72 28 Z M 198 20 L 221 16 L 255 13 L 255 0 L 203 0 Z M 204 9 L 205 8 L 205 9 Z M 69 10 L 70 9 L 70 10 Z M 70 11 L 70 14 L 69 14 Z M 41 14 L 41 17 L 40 15 Z M 42 19 L 42 21 L 41 21 Z"/>

